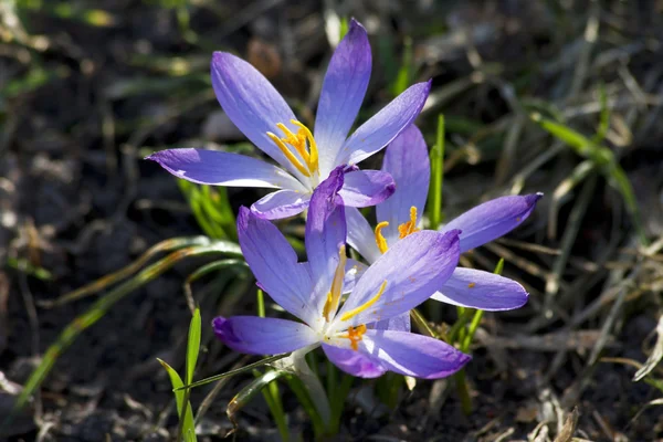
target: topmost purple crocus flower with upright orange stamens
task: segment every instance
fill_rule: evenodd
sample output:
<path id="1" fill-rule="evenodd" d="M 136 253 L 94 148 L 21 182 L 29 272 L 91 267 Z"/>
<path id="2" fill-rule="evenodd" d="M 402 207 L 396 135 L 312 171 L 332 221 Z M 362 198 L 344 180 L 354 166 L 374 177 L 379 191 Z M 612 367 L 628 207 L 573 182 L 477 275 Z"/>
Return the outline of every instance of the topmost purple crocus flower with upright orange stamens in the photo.
<path id="1" fill-rule="evenodd" d="M 215 52 L 211 76 L 221 107 L 246 138 L 281 167 L 236 154 L 192 148 L 162 150 L 148 159 L 192 182 L 280 189 L 251 208 L 265 219 L 302 212 L 308 207 L 313 190 L 338 166 L 346 166 L 347 171 L 339 192 L 344 203 L 375 206 L 391 196 L 393 180 L 389 173 L 355 170 L 350 166 L 382 149 L 414 120 L 431 84 L 414 84 L 347 137 L 366 94 L 370 71 L 368 35 L 352 20 L 329 62 L 312 133 L 295 119 L 285 99 L 251 64 Z"/>

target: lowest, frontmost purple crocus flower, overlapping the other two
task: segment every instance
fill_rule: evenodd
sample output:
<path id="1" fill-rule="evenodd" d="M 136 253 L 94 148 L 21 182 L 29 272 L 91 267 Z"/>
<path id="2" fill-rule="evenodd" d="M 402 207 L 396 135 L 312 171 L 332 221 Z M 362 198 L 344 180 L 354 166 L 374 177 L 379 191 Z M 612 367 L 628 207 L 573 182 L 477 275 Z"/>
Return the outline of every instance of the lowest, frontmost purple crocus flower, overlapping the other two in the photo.
<path id="1" fill-rule="evenodd" d="M 459 231 L 417 232 L 399 241 L 366 270 L 341 304 L 346 273 L 343 168 L 313 193 L 305 232 L 307 263 L 298 263 L 270 221 L 240 210 L 238 234 L 257 283 L 299 322 L 254 316 L 217 317 L 214 333 L 230 348 L 255 355 L 306 352 L 322 346 L 346 372 L 372 378 L 386 370 L 440 378 L 470 356 L 444 341 L 370 325 L 419 305 L 452 274 Z"/>

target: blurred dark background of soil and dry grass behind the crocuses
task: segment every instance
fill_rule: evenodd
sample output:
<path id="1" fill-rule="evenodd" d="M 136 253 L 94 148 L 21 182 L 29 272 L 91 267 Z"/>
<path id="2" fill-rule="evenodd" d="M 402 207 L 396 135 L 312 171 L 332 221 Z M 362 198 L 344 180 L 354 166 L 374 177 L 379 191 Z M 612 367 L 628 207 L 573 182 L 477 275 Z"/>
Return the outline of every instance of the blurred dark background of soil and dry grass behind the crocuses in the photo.
<path id="1" fill-rule="evenodd" d="M 492 270 L 504 257 L 504 274 L 532 294 L 523 309 L 484 316 L 469 366 L 473 414 L 445 380 L 403 388 L 393 408 L 371 393 L 375 381 L 355 382 L 339 440 L 571 441 L 565 422 L 576 406 L 578 438 L 663 438 L 657 0 L 0 2 L 0 417 L 106 287 L 54 299 L 160 241 L 210 234 L 191 189 L 143 158 L 168 147 L 260 154 L 215 101 L 211 53 L 251 62 L 311 123 L 351 17 L 373 53 L 359 120 L 433 78 L 417 124 L 433 146 L 445 117 L 446 220 L 502 194 L 546 197 L 523 227 L 464 262 Z M 262 193 L 214 196 L 236 212 Z M 301 223 L 286 229 L 301 238 Z M 182 367 L 182 284 L 204 262 L 180 263 L 108 308 L 57 355 L 41 394 L 0 439 L 169 440 L 177 417 L 156 358 Z M 193 294 L 203 330 L 219 313 L 254 311 L 245 272 L 208 275 Z M 451 309 L 429 314 L 435 327 L 454 320 Z M 197 377 L 239 360 L 209 335 Z M 221 440 L 232 428 L 225 406 L 245 381 L 218 392 L 199 438 Z M 308 440 L 306 414 L 284 394 L 293 434 Z M 262 399 L 236 419 L 239 440 L 277 440 Z"/>

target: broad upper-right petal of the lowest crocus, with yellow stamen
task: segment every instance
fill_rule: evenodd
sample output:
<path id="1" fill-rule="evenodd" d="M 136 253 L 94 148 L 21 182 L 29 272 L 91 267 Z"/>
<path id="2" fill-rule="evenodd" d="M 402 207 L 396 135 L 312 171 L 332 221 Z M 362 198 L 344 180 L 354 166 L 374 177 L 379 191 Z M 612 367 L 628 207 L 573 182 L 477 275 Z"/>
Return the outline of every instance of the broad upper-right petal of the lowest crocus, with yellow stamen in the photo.
<path id="1" fill-rule="evenodd" d="M 364 273 L 329 328 L 377 323 L 423 303 L 453 273 L 459 249 L 459 231 L 423 230 L 398 241 Z"/>

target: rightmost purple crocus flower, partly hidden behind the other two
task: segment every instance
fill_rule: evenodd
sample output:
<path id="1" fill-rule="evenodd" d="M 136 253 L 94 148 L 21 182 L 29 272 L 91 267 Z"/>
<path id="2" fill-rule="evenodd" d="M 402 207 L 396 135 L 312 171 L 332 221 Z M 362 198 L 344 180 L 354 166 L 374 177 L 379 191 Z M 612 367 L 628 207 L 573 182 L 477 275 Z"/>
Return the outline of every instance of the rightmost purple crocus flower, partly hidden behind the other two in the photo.
<path id="1" fill-rule="evenodd" d="M 417 126 L 403 130 L 387 148 L 382 171 L 389 172 L 397 190 L 376 207 L 378 224 L 371 229 L 364 215 L 347 208 L 348 244 L 369 263 L 409 238 L 421 228 L 430 179 L 429 154 Z M 519 225 L 534 210 L 541 193 L 502 197 L 461 214 L 441 231 L 461 230 L 461 253 L 493 241 Z M 355 263 L 356 277 L 364 264 Z M 462 307 L 484 311 L 518 308 L 527 302 L 527 292 L 517 282 L 491 272 L 457 267 L 443 285 L 431 292 L 432 298 Z M 408 315 L 392 319 L 390 329 L 409 329 Z"/>

